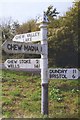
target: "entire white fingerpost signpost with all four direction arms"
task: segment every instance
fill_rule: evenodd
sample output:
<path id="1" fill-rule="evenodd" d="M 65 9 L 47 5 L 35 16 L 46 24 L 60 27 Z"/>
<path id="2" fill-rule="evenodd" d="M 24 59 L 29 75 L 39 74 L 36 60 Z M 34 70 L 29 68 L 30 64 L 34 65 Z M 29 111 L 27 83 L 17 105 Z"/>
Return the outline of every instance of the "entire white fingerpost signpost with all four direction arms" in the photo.
<path id="1" fill-rule="evenodd" d="M 6 68 L 41 69 L 41 113 L 48 115 L 48 79 L 78 79 L 79 71 L 76 68 L 49 68 L 48 69 L 48 18 L 45 13 L 37 19 L 40 31 L 19 34 L 13 41 L 5 41 L 2 48 L 7 53 L 41 54 L 41 59 L 7 59 Z M 31 44 L 40 41 L 41 44 Z"/>

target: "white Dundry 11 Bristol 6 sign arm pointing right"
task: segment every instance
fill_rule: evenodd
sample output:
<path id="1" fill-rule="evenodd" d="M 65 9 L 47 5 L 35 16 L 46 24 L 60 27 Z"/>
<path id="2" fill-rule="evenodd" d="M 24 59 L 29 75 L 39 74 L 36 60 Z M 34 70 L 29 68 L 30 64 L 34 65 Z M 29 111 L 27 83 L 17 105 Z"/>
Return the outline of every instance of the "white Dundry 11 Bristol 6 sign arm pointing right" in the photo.
<path id="1" fill-rule="evenodd" d="M 49 68 L 49 79 L 78 79 L 78 69 L 76 68 Z"/>

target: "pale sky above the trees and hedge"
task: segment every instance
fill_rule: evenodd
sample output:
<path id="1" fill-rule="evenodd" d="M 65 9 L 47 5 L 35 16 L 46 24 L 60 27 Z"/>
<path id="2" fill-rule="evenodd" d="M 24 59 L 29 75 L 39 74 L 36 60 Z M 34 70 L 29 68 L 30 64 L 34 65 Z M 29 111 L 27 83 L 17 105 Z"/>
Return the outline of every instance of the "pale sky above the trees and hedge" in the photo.
<path id="1" fill-rule="evenodd" d="M 24 23 L 29 19 L 36 18 L 49 5 L 60 12 L 60 16 L 72 7 L 73 0 L 0 0 L 0 19 L 12 17 L 14 21 Z M 64 2 L 65 1 L 65 2 Z"/>

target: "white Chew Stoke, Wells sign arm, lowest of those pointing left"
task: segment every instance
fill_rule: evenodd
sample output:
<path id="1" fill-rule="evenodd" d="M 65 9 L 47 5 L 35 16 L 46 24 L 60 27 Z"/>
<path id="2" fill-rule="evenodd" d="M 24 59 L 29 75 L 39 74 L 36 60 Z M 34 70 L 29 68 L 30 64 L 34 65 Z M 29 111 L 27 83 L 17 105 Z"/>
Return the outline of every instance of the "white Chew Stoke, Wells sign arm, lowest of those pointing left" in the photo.
<path id="1" fill-rule="evenodd" d="M 8 69 L 40 69 L 40 59 L 7 59 L 4 63 Z"/>

